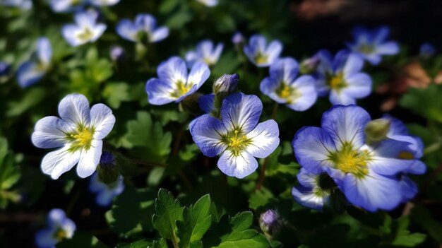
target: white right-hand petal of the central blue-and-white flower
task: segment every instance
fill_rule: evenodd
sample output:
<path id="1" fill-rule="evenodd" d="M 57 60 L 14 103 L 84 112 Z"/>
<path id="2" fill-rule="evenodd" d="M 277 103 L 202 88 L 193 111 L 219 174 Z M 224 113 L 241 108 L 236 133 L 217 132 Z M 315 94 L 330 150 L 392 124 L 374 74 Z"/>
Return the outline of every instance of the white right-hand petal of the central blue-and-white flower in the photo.
<path id="1" fill-rule="evenodd" d="M 277 148 L 280 144 L 280 130 L 273 119 L 260 123 L 253 129 L 247 138 L 251 143 L 246 151 L 256 158 L 265 158 Z"/>

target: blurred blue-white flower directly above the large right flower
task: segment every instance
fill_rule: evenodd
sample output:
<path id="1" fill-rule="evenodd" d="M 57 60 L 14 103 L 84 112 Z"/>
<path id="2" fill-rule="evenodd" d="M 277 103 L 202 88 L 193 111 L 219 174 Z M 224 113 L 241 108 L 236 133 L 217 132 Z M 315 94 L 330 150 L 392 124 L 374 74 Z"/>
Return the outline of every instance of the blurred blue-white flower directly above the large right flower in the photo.
<path id="1" fill-rule="evenodd" d="M 319 96 L 330 94 L 333 105 L 352 105 L 356 99 L 371 93 L 371 78 L 362 73 L 364 61 L 357 54 L 342 50 L 335 58 L 325 50 L 316 54 L 319 64 L 316 73 L 316 89 Z"/>

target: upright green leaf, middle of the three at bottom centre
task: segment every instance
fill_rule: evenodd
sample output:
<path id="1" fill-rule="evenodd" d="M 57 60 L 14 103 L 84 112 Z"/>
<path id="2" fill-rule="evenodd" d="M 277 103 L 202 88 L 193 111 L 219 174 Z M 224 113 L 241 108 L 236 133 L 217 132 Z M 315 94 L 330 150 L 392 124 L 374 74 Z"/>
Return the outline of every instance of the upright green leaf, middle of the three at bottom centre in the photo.
<path id="1" fill-rule="evenodd" d="M 206 194 L 195 205 L 184 208 L 183 221 L 177 221 L 179 247 L 190 247 L 191 243 L 196 246 L 203 238 L 212 223 L 210 205 L 210 195 Z"/>

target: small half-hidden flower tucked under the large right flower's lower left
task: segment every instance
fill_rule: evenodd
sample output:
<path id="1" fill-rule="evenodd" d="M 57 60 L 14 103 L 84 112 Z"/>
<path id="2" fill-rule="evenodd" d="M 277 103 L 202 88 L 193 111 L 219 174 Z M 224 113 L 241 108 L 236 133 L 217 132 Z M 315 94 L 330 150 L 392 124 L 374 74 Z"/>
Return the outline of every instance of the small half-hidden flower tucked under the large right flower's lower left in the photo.
<path id="1" fill-rule="evenodd" d="M 330 191 L 319 186 L 320 175 L 301 168 L 297 175 L 299 185 L 293 187 L 292 196 L 297 203 L 306 208 L 321 211 L 330 202 Z"/>

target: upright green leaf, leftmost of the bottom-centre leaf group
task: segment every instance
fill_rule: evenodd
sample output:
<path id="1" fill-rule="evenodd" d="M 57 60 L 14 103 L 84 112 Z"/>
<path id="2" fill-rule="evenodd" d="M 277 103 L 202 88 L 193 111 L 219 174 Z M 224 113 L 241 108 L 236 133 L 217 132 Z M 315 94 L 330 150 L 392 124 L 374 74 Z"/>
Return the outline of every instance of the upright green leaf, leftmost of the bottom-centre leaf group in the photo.
<path id="1" fill-rule="evenodd" d="M 177 220 L 183 220 L 183 209 L 178 199 L 166 189 L 158 191 L 155 199 L 155 214 L 152 217 L 153 227 L 160 232 L 161 237 L 178 243 L 176 230 Z"/>

